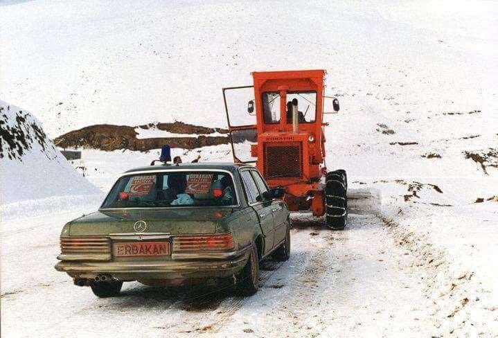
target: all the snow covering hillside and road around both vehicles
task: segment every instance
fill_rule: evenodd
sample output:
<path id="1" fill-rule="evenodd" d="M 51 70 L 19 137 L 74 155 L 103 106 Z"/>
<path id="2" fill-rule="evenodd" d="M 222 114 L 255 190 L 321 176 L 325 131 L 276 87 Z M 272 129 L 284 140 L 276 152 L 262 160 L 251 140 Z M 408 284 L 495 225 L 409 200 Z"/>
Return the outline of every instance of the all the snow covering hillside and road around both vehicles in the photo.
<path id="1" fill-rule="evenodd" d="M 222 127 L 221 88 L 251 84 L 250 71 L 327 69 L 341 103 L 326 116 L 327 165 L 347 170 L 351 213 L 344 232 L 294 215 L 291 260 L 261 272 L 248 299 L 130 283 L 104 300 L 52 268 L 64 222 L 101 199 L 44 190 L 22 208 L 49 220 L 2 209 L 3 334 L 496 337 L 498 160 L 485 172 L 465 157 L 498 149 L 497 18 L 492 1 L 0 4 L 0 94 L 36 112 L 50 137 L 98 123 Z M 231 160 L 229 145 L 172 150 L 184 162 L 197 154 Z M 105 191 L 157 157 L 83 150 L 73 166 Z M 2 179 L 30 170 L 8 163 Z M 19 202 L 16 187 L 2 195 Z"/>

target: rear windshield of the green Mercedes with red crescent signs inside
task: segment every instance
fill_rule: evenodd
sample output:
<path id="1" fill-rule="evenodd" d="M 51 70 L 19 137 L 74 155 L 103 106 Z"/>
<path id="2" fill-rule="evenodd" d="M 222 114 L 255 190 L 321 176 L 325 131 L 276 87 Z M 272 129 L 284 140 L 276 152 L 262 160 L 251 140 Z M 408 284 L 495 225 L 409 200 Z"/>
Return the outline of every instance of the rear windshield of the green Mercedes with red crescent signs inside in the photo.
<path id="1" fill-rule="evenodd" d="M 231 175 L 217 171 L 168 171 L 123 176 L 101 208 L 235 206 Z"/>

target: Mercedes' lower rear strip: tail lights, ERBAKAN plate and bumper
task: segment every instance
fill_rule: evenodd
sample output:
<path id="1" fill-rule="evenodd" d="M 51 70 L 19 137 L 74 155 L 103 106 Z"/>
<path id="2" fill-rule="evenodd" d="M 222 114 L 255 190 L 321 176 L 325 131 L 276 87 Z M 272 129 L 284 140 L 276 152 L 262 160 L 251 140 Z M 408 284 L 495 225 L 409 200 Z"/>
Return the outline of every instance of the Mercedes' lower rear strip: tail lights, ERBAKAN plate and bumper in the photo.
<path id="1" fill-rule="evenodd" d="M 247 249 L 235 249 L 231 233 L 164 233 L 61 237 L 55 269 L 78 285 L 112 278 L 120 281 L 226 278 L 242 269 Z"/>

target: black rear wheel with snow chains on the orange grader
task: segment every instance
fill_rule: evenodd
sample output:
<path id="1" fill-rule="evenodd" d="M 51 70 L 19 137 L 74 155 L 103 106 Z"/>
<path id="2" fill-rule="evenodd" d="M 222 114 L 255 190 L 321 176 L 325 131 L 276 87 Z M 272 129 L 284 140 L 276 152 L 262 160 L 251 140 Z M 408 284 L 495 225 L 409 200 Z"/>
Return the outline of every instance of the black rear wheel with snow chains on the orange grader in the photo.
<path id="1" fill-rule="evenodd" d="M 348 222 L 348 178 L 346 170 L 327 173 L 325 188 L 325 217 L 330 229 L 342 230 Z"/>

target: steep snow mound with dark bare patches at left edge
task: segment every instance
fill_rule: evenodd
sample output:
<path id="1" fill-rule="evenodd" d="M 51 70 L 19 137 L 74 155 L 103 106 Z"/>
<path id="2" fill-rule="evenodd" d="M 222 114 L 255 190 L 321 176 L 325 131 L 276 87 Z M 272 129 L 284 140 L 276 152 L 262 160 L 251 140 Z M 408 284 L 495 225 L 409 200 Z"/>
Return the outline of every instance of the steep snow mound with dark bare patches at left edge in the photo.
<path id="1" fill-rule="evenodd" d="M 100 190 L 78 174 L 55 149 L 42 124 L 18 107 L 0 101 L 0 204 L 3 216 L 26 207 L 67 207 L 95 198 Z M 46 200 L 46 198 L 51 199 Z M 44 199 L 46 203 L 40 202 Z"/>

